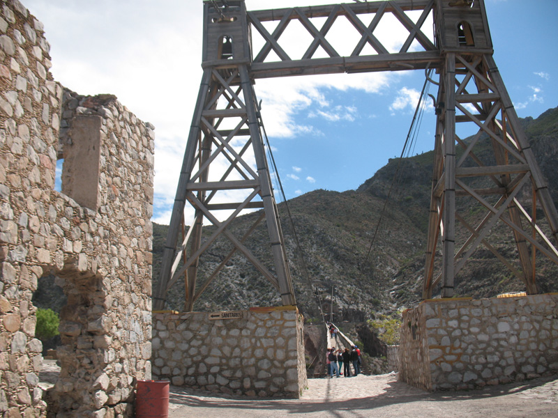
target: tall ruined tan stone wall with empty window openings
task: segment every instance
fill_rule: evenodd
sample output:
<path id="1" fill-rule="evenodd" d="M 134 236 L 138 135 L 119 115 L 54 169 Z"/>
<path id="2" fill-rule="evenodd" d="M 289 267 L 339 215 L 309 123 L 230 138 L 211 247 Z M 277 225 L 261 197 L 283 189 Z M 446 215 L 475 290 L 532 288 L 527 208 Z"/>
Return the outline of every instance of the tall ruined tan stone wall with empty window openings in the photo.
<path id="1" fill-rule="evenodd" d="M 151 378 L 153 126 L 54 82 L 49 49 L 43 25 L 2 0 L 0 415 L 45 417 L 48 398 L 65 417 L 131 417 L 135 380 Z M 47 396 L 31 297 L 50 273 L 68 305 Z"/>

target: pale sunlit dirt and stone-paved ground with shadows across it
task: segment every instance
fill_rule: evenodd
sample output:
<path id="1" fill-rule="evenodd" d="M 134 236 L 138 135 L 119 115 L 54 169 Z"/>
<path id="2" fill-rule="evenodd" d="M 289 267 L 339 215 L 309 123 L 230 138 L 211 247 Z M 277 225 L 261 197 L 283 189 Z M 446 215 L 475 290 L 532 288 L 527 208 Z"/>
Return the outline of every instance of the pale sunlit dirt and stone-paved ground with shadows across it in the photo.
<path id="1" fill-rule="evenodd" d="M 171 387 L 169 418 L 558 417 L 558 377 L 467 392 L 429 393 L 395 376 L 309 379 L 300 399 L 246 399 Z"/>

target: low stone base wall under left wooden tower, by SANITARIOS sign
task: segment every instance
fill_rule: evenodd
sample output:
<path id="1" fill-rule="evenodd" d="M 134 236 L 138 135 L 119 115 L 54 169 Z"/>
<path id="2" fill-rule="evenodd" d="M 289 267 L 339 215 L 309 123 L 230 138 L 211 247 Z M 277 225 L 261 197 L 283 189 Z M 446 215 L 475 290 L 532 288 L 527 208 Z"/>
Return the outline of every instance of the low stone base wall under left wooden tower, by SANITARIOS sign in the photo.
<path id="1" fill-rule="evenodd" d="M 292 307 L 242 318 L 153 312 L 153 378 L 246 396 L 298 398 L 307 386 L 303 319 Z"/>

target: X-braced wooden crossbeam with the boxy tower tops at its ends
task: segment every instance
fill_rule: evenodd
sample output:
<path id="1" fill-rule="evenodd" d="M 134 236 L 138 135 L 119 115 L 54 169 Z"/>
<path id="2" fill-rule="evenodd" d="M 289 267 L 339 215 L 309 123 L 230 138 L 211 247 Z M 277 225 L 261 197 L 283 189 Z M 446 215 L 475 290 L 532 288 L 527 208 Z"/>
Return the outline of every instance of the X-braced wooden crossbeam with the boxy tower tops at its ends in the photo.
<path id="1" fill-rule="evenodd" d="M 371 1 L 257 11 L 246 10 L 243 1 L 228 1 L 228 7 L 206 3 L 211 7 L 205 9 L 204 65 L 220 61 L 219 37 L 225 29 L 234 49 L 228 59 L 250 63 L 254 78 L 439 68 L 444 52 L 492 52 L 481 1 L 465 6 L 451 6 L 455 1 Z M 289 52 L 294 42 L 285 36 L 292 26 L 303 28 L 306 35 L 296 40 L 302 48 L 298 56 Z M 354 35 L 349 45 L 333 42 L 340 33 L 335 28 L 341 26 L 344 38 Z M 386 30 L 405 33 L 406 38 L 389 45 L 386 36 L 378 35 Z M 262 45 L 255 45 L 257 37 Z"/>

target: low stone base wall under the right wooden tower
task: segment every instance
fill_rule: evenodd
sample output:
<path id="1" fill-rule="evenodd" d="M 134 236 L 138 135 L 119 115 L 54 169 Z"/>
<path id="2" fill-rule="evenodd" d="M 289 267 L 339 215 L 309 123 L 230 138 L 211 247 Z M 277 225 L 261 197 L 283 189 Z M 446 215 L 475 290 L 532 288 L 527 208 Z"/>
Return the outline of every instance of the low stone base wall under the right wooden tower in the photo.
<path id="1" fill-rule="evenodd" d="M 558 293 L 426 300 L 403 314 L 399 379 L 473 389 L 558 374 Z"/>

